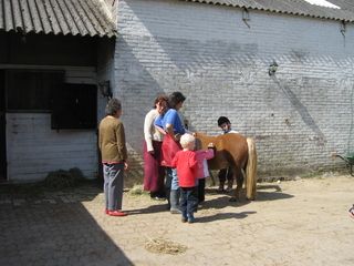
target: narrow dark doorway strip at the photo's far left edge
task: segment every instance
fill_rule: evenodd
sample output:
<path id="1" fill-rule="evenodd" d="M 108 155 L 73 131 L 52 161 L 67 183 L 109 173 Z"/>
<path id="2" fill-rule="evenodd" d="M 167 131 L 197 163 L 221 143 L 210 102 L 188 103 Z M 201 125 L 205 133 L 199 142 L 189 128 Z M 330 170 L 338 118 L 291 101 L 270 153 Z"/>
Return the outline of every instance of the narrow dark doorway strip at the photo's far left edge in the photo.
<path id="1" fill-rule="evenodd" d="M 4 71 L 0 70 L 0 182 L 7 180 Z"/>

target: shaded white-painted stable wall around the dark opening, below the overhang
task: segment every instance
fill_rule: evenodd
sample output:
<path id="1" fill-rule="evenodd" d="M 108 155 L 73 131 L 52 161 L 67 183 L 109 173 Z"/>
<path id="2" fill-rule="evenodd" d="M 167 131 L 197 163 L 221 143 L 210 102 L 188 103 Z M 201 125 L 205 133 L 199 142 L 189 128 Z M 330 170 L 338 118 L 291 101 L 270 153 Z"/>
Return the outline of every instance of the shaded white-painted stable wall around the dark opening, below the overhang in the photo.
<path id="1" fill-rule="evenodd" d="M 94 68 L 64 69 L 67 83 L 96 84 Z M 50 113 L 7 113 L 8 181 L 43 180 L 51 171 L 72 167 L 87 178 L 96 177 L 96 142 L 95 130 L 51 130 Z"/>

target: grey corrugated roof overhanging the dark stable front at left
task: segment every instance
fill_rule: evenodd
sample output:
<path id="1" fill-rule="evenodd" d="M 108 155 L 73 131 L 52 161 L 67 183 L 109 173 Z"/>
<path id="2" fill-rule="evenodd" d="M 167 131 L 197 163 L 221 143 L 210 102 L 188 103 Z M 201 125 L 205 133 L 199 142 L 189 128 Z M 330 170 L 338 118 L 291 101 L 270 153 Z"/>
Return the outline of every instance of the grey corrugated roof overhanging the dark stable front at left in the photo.
<path id="1" fill-rule="evenodd" d="M 0 0 L 0 30 L 114 37 L 103 0 Z"/>

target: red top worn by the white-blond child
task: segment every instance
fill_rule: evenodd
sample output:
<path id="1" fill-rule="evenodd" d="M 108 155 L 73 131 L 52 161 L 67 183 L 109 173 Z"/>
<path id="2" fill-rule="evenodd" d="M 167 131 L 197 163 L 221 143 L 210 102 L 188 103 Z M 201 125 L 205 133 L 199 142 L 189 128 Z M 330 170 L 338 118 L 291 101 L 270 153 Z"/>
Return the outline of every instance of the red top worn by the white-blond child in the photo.
<path id="1" fill-rule="evenodd" d="M 178 183 L 180 187 L 196 186 L 198 171 L 196 152 L 178 151 L 171 164 L 173 167 L 177 168 Z"/>

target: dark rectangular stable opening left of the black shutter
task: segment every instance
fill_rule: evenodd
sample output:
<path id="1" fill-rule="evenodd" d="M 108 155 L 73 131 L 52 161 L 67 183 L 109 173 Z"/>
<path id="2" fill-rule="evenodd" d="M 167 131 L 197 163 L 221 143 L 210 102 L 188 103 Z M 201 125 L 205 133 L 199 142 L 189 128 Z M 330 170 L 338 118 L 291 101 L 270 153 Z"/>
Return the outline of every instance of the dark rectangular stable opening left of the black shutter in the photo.
<path id="1" fill-rule="evenodd" d="M 59 90 L 63 80 L 63 71 L 8 70 L 8 111 L 50 112 L 53 92 Z"/>

